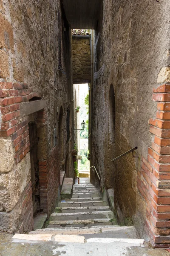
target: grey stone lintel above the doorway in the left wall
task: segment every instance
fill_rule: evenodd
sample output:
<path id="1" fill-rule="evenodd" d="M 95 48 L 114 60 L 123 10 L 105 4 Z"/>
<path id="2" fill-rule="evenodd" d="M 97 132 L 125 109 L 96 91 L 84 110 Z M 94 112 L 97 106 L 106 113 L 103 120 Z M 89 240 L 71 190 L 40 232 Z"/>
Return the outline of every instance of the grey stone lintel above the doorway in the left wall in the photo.
<path id="1" fill-rule="evenodd" d="M 45 108 L 45 99 L 39 99 L 31 102 L 23 102 L 20 104 L 20 116 L 28 116 L 32 113 Z"/>

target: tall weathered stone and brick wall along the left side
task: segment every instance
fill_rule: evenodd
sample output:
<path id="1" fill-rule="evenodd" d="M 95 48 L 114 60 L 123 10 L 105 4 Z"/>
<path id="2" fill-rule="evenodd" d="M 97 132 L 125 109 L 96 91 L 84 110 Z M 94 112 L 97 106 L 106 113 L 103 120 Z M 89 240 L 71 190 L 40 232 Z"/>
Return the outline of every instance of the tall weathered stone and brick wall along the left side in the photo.
<path id="1" fill-rule="evenodd" d="M 59 26 L 62 32 L 60 70 Z M 60 1 L 0 0 L 0 230 L 20 230 L 23 233 L 32 230 L 34 225 L 30 120 L 33 119 L 37 127 L 40 211 L 49 215 L 59 195 L 58 129 L 61 107 L 64 138 L 62 168 L 65 169 L 65 158 L 68 156 L 70 175 L 74 176 L 71 158 L 71 51 L 71 29 L 62 15 Z M 43 107 L 39 104 L 42 100 L 45 102 Z M 37 102 L 37 109 L 31 107 L 31 102 Z M 28 108 L 23 107 L 26 103 Z M 68 108 L 69 141 L 66 140 L 65 129 Z M 43 163 L 46 163 L 45 169 L 42 168 Z"/>

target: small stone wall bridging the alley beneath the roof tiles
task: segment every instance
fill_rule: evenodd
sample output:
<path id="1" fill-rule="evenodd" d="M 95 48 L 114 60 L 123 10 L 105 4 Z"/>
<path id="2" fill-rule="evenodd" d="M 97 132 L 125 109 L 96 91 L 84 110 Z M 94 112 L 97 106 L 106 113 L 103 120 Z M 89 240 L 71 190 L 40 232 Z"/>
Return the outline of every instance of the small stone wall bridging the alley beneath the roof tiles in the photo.
<path id="1" fill-rule="evenodd" d="M 85 84 L 91 81 L 90 38 L 73 36 L 73 83 Z"/>

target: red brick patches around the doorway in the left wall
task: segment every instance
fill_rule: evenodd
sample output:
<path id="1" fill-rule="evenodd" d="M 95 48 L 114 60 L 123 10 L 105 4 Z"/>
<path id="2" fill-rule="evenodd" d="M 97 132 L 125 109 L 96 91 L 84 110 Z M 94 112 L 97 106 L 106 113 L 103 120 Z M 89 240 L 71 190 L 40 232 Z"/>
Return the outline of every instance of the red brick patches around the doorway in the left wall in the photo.
<path id="1" fill-rule="evenodd" d="M 15 148 L 15 163 L 19 163 L 29 152 L 29 130 L 28 118 L 20 119 L 20 103 L 26 102 L 39 94 L 29 90 L 26 84 L 0 82 L 0 111 L 2 114 L 2 125 L 0 137 L 11 136 Z M 47 113 L 39 111 L 37 125 L 45 126 Z M 59 188 L 59 151 L 57 146 L 52 148 L 47 159 L 39 159 L 40 173 L 40 209 L 50 215 L 57 200 Z M 22 201 L 22 224 L 20 232 L 32 230 L 33 209 L 31 182 L 25 188 L 20 201 Z"/>

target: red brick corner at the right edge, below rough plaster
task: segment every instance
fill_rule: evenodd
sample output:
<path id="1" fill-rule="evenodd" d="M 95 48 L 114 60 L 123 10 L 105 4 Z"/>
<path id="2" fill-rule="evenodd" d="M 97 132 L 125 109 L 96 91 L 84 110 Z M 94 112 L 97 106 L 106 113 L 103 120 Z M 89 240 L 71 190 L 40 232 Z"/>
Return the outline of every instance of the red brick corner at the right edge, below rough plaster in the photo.
<path id="1" fill-rule="evenodd" d="M 142 158 L 137 186 L 147 204 L 145 230 L 154 247 L 170 244 L 170 84 L 153 90 L 158 101 L 156 119 L 150 119 L 154 142 Z"/>

